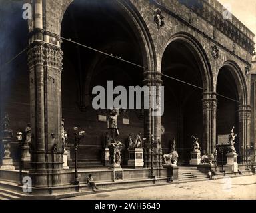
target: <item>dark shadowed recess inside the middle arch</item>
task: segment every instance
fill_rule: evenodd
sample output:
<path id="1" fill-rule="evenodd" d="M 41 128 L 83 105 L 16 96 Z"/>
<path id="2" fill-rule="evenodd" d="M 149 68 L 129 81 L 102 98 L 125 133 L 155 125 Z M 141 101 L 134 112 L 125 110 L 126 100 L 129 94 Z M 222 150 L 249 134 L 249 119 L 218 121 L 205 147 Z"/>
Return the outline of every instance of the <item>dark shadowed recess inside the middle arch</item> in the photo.
<path id="1" fill-rule="evenodd" d="M 197 55 L 185 41 L 169 44 L 162 59 L 162 72 L 181 81 L 203 87 Z M 165 86 L 165 114 L 162 124 L 163 152 L 170 151 L 170 144 L 176 138 L 179 164 L 188 164 L 192 148 L 192 135 L 203 140 L 202 90 L 173 79 L 163 78 Z"/>

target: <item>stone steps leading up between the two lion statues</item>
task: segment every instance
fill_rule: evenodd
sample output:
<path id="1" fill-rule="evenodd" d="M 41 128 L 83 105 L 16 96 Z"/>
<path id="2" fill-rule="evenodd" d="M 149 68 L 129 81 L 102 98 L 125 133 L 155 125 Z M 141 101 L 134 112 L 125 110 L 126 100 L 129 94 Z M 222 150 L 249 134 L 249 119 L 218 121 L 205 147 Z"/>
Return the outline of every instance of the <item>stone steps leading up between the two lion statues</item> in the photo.
<path id="1" fill-rule="evenodd" d="M 179 183 L 209 180 L 208 175 L 197 167 L 179 167 Z"/>

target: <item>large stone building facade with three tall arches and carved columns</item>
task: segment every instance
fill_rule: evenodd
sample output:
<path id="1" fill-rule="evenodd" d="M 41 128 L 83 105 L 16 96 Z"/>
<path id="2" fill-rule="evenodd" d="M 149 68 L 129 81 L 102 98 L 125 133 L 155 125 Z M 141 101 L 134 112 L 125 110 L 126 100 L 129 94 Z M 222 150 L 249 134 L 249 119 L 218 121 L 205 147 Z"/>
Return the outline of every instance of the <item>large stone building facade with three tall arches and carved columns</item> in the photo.
<path id="1" fill-rule="evenodd" d="M 151 167 L 151 160 L 156 170 L 163 168 L 162 155 L 169 153 L 173 138 L 181 164 L 189 162 L 191 135 L 199 138 L 202 152 L 213 154 L 219 136 L 229 134 L 233 126 L 239 164 L 245 164 L 247 145 L 255 150 L 255 35 L 233 15 L 225 17 L 217 1 L 29 3 L 33 15 L 27 23 L 28 66 L 21 66 L 27 72 L 21 73 L 21 82 L 13 86 L 11 98 L 4 99 L 2 110 L 15 121 L 13 132 L 31 124 L 29 176 L 34 187 L 62 186 L 72 179 L 73 174 L 63 169 L 63 118 L 70 142 L 74 126 L 86 132 L 79 146 L 79 166 L 103 166 L 109 114 L 91 107 L 91 89 L 106 88 L 109 80 L 114 86 L 165 86 L 163 116 L 154 117 L 151 110 L 125 110 L 119 115 L 123 143 L 130 133 L 142 132 L 147 138 L 145 168 Z M 148 146 L 151 135 L 153 154 Z M 124 165 L 127 159 L 123 153 Z"/>

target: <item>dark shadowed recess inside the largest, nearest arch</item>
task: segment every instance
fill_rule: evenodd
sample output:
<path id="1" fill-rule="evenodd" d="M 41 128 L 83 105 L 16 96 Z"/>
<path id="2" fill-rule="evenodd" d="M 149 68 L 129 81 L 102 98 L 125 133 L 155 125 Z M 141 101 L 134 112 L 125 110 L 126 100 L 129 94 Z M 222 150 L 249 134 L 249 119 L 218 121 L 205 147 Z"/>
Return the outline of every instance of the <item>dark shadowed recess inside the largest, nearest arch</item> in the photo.
<path id="1" fill-rule="evenodd" d="M 76 0 L 63 17 L 61 37 L 93 47 L 138 65 L 145 65 L 142 39 L 138 27 L 117 2 L 109 0 Z M 101 85 L 107 91 L 107 81 L 113 87 L 141 85 L 143 69 L 107 57 L 85 47 L 64 41 L 62 74 L 62 110 L 65 128 L 72 135 L 73 126 L 85 130 L 86 136 L 79 150 L 84 165 L 102 165 L 104 135 L 107 123 L 98 115 L 107 116 L 107 110 L 94 110 L 91 106 L 93 87 Z M 136 110 L 119 116 L 119 140 L 126 142 L 129 133 L 143 133 L 143 118 Z M 129 125 L 123 124 L 129 118 Z M 72 136 L 71 136 L 72 137 Z M 72 140 L 72 139 L 71 139 Z M 125 164 L 126 156 L 123 156 Z"/>

